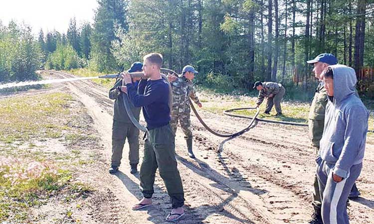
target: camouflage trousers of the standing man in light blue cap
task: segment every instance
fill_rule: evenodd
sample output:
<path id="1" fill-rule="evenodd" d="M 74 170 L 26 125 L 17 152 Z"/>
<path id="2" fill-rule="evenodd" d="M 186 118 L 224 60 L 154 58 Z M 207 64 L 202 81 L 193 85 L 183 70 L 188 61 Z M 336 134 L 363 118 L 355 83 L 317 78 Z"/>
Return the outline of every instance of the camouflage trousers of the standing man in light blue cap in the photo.
<path id="1" fill-rule="evenodd" d="M 170 125 L 174 134 L 177 132 L 178 120 L 181 124 L 183 132 L 185 132 L 186 139 L 192 139 L 191 120 L 189 118 L 190 110 L 180 111 L 179 108 L 173 107 L 172 119 Z"/>

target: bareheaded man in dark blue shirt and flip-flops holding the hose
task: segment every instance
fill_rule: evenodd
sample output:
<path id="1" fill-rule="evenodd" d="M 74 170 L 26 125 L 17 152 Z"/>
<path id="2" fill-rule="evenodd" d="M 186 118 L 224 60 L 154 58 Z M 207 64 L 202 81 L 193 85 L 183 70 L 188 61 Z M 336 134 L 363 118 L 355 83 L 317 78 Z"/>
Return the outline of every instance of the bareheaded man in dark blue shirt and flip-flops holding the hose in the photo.
<path id="1" fill-rule="evenodd" d="M 175 135 L 170 126 L 169 85 L 160 74 L 163 57 L 151 53 L 143 58 L 145 78 L 139 82 L 138 93 L 131 76 L 124 74 L 127 93 L 135 107 L 143 107 L 143 115 L 147 122 L 147 139 L 144 142 L 144 157 L 140 168 L 140 188 L 143 199 L 133 210 L 139 210 L 152 204 L 155 174 L 159 168 L 168 194 L 171 197 L 172 211 L 167 221 L 177 221 L 184 216 L 184 191 L 181 176 L 177 168 L 175 154 Z"/>

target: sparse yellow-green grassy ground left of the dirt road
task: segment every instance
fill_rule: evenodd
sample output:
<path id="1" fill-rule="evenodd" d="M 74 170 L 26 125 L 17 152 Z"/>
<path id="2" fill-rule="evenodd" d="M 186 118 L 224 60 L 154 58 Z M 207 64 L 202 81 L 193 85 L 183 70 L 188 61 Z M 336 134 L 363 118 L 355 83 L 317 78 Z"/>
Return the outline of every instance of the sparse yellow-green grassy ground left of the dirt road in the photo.
<path id="1" fill-rule="evenodd" d="M 91 156 L 83 158 L 81 147 L 50 152 L 35 144 L 58 138 L 69 145 L 94 145 L 97 137 L 85 133 L 87 121 L 78 112 L 65 93 L 0 100 L 0 223 L 27 222 L 32 207 L 55 195 L 73 200 L 92 191 L 73 183 L 70 170 L 95 162 Z"/>

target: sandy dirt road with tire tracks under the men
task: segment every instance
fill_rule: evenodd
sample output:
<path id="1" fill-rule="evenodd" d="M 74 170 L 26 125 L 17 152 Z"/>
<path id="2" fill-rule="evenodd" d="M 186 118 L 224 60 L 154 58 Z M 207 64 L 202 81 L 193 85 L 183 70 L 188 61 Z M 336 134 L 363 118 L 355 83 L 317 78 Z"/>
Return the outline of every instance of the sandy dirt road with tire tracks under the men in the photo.
<path id="1" fill-rule="evenodd" d="M 108 194 L 97 202 L 93 217 L 101 223 L 164 223 L 171 205 L 159 175 L 155 182 L 154 206 L 146 211 L 131 210 L 141 194 L 139 177 L 129 172 L 127 146 L 120 172 L 115 176 L 107 173 L 113 107 L 107 97 L 108 90 L 90 81 L 64 85 L 86 107 L 106 148 L 102 155 L 106 162 L 92 171 L 91 178 L 97 188 Z M 249 122 L 199 112 L 209 126 L 221 132 L 237 131 Z M 186 198 L 186 216 L 180 224 L 307 223 L 312 214 L 315 171 L 315 152 L 310 147 L 307 128 L 258 122 L 243 135 L 224 139 L 207 132 L 194 116 L 191 122 L 196 159 L 187 156 L 180 128 L 176 136 Z M 141 154 L 142 149 L 143 143 Z M 349 215 L 354 224 L 374 223 L 373 152 L 373 139 L 368 137 L 364 168 L 358 180 L 362 198 L 349 202 Z"/>

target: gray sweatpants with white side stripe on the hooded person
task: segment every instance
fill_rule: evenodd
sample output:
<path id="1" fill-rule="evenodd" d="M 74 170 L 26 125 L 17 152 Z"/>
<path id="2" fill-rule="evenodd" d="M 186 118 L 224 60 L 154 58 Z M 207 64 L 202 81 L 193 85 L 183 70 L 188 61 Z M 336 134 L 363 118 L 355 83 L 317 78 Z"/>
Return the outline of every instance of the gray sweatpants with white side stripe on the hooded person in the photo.
<path id="1" fill-rule="evenodd" d="M 353 165 L 344 178 L 337 183 L 333 180 L 335 163 L 319 161 L 317 178 L 322 197 L 322 220 L 324 224 L 349 224 L 347 200 L 355 181 L 360 176 L 363 164 Z"/>

